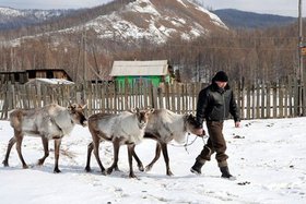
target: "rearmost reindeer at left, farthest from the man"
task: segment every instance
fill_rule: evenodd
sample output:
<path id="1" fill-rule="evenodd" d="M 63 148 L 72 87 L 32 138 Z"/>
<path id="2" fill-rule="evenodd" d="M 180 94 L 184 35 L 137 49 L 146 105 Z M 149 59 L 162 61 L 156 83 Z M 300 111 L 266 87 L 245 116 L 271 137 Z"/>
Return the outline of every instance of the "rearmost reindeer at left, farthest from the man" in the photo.
<path id="1" fill-rule="evenodd" d="M 12 146 L 16 143 L 16 151 L 22 161 L 23 168 L 28 168 L 22 156 L 22 141 L 25 135 L 42 139 L 45 155 L 38 159 L 38 165 L 43 165 L 49 156 L 49 140 L 55 140 L 55 168 L 54 172 L 60 172 L 58 168 L 59 148 L 61 139 L 70 134 L 74 124 L 85 127 L 87 120 L 84 116 L 85 106 L 69 105 L 61 107 L 56 104 L 47 105 L 37 109 L 14 109 L 9 115 L 11 127 L 14 129 L 14 136 L 9 141 L 3 165 L 9 166 L 9 156 Z"/>

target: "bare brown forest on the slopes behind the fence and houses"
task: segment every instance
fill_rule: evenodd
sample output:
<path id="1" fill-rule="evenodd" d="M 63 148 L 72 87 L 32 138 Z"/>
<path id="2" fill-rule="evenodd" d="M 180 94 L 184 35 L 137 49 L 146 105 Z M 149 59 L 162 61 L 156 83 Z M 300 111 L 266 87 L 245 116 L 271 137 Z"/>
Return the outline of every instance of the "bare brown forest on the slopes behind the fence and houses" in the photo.
<path id="1" fill-rule="evenodd" d="M 133 44 L 116 38 L 101 39 L 94 31 L 60 37 L 49 35 L 119 9 L 123 1 L 97 7 L 91 12 L 82 10 L 64 21 L 1 32 L 0 70 L 64 69 L 80 82 L 107 80 L 114 60 L 166 59 L 183 82 L 207 82 L 219 70 L 228 72 L 233 80 L 248 82 L 278 81 L 297 74 L 297 22 L 266 29 L 231 29 L 189 41 L 174 36 L 163 45 L 154 45 L 145 38 Z M 24 37 L 31 35 L 39 37 Z M 11 46 L 14 38 L 20 38 L 20 44 Z M 10 46 L 5 41 L 10 41 Z"/>

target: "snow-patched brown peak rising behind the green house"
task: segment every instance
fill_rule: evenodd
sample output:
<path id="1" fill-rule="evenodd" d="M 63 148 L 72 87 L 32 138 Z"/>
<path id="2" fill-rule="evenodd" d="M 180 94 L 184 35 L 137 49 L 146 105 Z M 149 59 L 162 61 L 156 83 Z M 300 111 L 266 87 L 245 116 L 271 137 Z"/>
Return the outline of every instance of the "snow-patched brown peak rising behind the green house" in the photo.
<path id="1" fill-rule="evenodd" d="M 191 39 L 227 28 L 213 13 L 189 0 L 138 0 L 120 11 L 101 15 L 85 24 L 101 38 L 152 39 L 165 43 L 169 37 Z"/>

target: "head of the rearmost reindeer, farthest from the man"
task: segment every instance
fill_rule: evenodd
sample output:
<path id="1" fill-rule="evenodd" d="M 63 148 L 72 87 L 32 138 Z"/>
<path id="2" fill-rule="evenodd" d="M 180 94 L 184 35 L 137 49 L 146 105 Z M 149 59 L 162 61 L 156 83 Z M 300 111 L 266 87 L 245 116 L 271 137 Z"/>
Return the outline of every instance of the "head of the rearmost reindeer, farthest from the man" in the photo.
<path id="1" fill-rule="evenodd" d="M 83 127 L 87 125 L 87 119 L 85 118 L 84 108 L 86 105 L 70 104 L 67 109 L 72 117 L 73 122 Z"/>

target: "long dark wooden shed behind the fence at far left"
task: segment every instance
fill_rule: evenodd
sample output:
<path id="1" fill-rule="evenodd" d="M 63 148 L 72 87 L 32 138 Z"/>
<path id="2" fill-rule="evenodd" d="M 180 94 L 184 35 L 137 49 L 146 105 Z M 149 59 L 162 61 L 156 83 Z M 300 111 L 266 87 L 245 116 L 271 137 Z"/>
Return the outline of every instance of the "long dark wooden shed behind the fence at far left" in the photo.
<path id="1" fill-rule="evenodd" d="M 61 79 L 72 81 L 67 72 L 60 69 L 0 72 L 0 83 L 24 84 L 33 79 Z"/>

